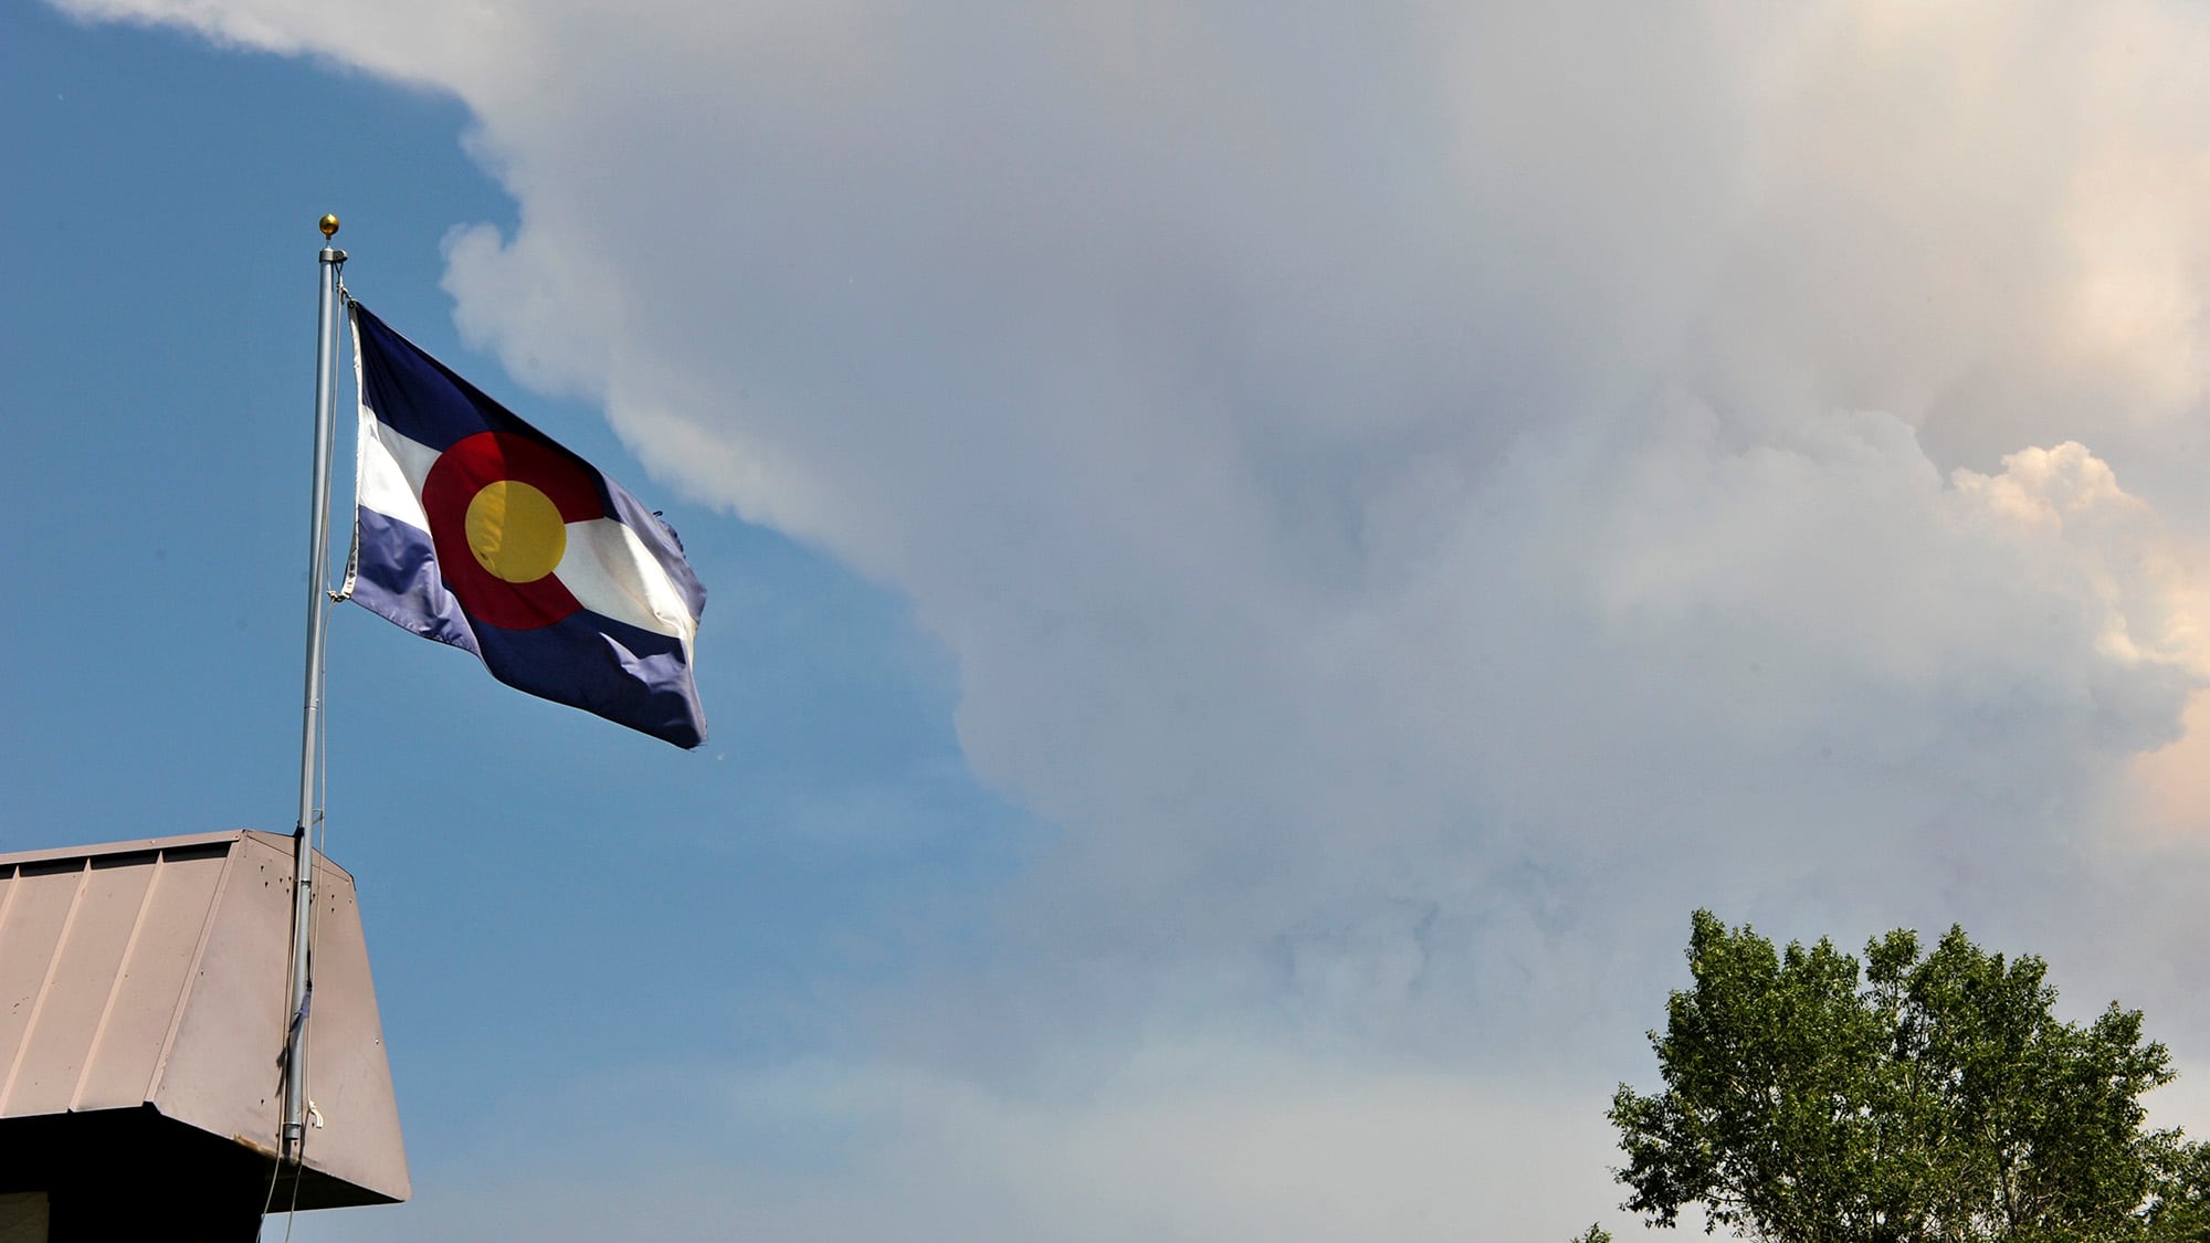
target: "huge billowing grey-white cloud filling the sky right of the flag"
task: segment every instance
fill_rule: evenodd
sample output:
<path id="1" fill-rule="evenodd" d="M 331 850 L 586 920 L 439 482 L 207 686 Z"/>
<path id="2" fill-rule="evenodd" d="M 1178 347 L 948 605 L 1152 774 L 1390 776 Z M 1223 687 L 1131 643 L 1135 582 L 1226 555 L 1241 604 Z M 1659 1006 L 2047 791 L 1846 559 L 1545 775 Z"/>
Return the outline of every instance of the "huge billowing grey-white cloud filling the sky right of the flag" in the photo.
<path id="1" fill-rule="evenodd" d="M 2157 905 L 2210 812 L 2192 7 L 71 7 L 466 100 L 522 226 L 453 234 L 462 327 L 911 593 L 1065 834 L 994 971 L 882 1002 L 948 1093 L 1182 1040 L 1609 1064 L 1693 905 L 2203 991 Z M 1054 1139 L 1337 1090 L 1401 1104 Z M 1081 1170 L 1008 1179 L 1138 1221 Z M 1282 1236 L 1213 1190 L 1158 1221 Z"/>

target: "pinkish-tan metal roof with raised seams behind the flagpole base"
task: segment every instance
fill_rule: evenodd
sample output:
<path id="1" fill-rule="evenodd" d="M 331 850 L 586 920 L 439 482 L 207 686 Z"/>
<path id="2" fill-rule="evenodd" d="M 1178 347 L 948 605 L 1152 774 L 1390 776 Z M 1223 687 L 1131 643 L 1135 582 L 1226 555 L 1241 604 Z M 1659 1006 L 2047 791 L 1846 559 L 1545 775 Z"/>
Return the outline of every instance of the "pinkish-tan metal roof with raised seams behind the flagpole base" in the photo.
<path id="1" fill-rule="evenodd" d="M 301 1208 L 407 1199 L 354 878 L 316 854 Z M 146 1110 L 274 1157 L 292 840 L 234 829 L 0 856 L 0 1137 Z M 7 1190 L 7 1188 L 0 1188 Z"/>

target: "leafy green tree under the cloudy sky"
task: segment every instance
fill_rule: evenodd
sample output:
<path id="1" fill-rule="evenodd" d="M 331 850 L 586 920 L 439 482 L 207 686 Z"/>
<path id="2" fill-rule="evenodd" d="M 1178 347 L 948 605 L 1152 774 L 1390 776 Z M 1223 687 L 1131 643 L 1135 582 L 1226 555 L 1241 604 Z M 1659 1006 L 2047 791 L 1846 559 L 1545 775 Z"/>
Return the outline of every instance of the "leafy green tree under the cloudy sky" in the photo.
<path id="1" fill-rule="evenodd" d="M 2033 955 L 1951 927 L 1865 960 L 1697 911 L 1693 986 L 1649 1033 L 1664 1090 L 1620 1084 L 1627 1210 L 1772 1243 L 2210 1241 L 2210 1155 L 2144 1128 L 2172 1079 L 2141 1013 L 2055 1017 Z"/>

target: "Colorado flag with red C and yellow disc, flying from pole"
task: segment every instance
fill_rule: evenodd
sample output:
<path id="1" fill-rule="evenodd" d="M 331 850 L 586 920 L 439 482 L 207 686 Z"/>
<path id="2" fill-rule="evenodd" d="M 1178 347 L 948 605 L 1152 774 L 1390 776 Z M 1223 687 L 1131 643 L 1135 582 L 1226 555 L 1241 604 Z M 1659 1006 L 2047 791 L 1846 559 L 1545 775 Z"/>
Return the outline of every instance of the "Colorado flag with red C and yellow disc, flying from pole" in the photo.
<path id="1" fill-rule="evenodd" d="M 354 599 L 530 694 L 705 741 L 705 588 L 614 480 L 351 303 L 360 378 Z"/>

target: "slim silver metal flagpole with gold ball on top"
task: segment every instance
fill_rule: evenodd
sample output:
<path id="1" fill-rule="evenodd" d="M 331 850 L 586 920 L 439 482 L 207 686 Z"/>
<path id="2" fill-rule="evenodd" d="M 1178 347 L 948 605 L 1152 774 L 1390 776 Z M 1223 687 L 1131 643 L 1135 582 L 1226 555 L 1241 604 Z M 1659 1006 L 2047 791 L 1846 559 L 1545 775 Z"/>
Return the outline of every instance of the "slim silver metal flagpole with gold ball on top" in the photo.
<path id="1" fill-rule="evenodd" d="M 329 246 L 338 217 L 323 217 L 323 294 L 314 338 L 314 500 L 307 549 L 307 694 L 298 739 L 298 825 L 292 829 L 292 993 L 285 1004 L 283 1159 L 303 1161 L 307 1117 L 307 997 L 314 989 L 309 927 L 314 916 L 314 787 L 323 723 L 323 622 L 329 613 L 329 442 L 338 400 L 338 270 L 345 252 Z"/>

